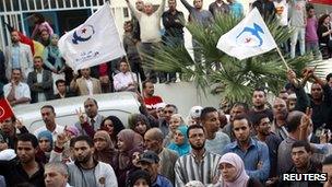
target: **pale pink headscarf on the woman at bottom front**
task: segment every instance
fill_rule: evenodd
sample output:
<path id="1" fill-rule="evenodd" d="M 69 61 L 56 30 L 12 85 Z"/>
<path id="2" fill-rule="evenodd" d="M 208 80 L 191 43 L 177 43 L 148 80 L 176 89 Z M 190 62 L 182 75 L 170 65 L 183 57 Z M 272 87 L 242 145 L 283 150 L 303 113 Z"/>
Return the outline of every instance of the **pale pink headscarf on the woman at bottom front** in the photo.
<path id="1" fill-rule="evenodd" d="M 220 164 L 221 163 L 228 163 L 236 168 L 236 177 L 234 182 L 225 182 L 221 175 L 220 180 L 222 182 L 223 187 L 238 187 L 247 185 L 249 176 L 246 173 L 245 164 L 240 156 L 235 153 L 226 153 L 222 156 Z"/>

